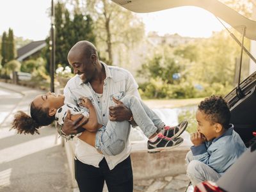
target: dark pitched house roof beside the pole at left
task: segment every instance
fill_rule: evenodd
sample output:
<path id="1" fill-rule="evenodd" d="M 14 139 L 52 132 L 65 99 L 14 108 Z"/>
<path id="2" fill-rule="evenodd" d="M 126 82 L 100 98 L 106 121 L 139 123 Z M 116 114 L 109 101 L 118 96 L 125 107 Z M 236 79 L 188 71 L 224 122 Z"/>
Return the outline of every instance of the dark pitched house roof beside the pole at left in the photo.
<path id="1" fill-rule="evenodd" d="M 45 40 L 31 42 L 17 50 L 17 60 L 22 61 L 46 46 Z"/>

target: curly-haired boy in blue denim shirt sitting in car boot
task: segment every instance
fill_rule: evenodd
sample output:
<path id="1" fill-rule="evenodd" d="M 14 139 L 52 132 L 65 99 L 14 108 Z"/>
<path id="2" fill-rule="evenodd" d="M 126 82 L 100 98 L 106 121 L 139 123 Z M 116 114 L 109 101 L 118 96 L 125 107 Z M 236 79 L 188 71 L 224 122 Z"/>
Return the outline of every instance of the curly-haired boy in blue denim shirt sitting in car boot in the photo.
<path id="1" fill-rule="evenodd" d="M 243 154 L 246 147 L 230 122 L 230 110 L 221 96 L 212 95 L 198 105 L 194 146 L 186 156 L 187 175 L 193 186 L 204 180 L 216 182 Z"/>

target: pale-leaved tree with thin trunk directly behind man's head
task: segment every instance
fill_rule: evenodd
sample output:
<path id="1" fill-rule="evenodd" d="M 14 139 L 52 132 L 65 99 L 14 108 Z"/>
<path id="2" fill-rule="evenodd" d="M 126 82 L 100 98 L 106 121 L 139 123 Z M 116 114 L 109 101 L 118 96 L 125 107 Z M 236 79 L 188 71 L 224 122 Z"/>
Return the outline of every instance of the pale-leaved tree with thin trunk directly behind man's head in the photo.
<path id="1" fill-rule="evenodd" d="M 132 12 L 109 0 L 86 1 L 85 12 L 96 22 L 97 44 L 108 64 L 113 63 L 113 52 L 122 51 L 122 57 L 130 47 L 143 38 L 144 24 Z"/>

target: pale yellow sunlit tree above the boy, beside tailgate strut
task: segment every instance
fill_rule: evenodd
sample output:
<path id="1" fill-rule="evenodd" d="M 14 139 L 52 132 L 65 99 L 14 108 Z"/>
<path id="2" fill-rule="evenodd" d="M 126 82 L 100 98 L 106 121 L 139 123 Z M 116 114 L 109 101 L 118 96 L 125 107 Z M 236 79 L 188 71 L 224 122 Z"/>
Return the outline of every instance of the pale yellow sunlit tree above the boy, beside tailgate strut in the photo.
<path id="1" fill-rule="evenodd" d="M 234 35 L 239 36 L 239 33 L 234 32 Z M 248 44 L 249 40 L 244 39 L 244 46 L 248 47 Z M 198 40 L 191 46 L 196 47 L 197 56 L 188 71 L 189 81 L 200 84 L 218 82 L 223 86 L 233 84 L 236 58 L 240 56 L 241 47 L 227 31 L 214 33 L 211 38 Z"/>

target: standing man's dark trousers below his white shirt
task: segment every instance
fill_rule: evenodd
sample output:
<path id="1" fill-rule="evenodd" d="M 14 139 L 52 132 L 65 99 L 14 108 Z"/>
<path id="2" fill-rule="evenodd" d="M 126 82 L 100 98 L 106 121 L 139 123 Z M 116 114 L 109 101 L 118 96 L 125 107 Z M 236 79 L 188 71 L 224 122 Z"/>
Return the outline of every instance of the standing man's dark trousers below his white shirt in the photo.
<path id="1" fill-rule="evenodd" d="M 132 192 L 133 178 L 131 157 L 109 170 L 106 159 L 100 161 L 99 168 L 75 160 L 76 181 L 80 192 L 102 192 L 104 180 L 109 192 Z"/>

